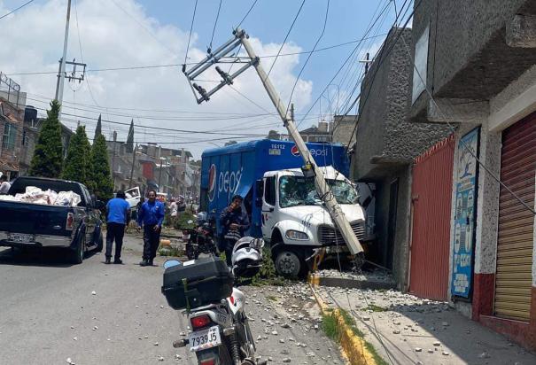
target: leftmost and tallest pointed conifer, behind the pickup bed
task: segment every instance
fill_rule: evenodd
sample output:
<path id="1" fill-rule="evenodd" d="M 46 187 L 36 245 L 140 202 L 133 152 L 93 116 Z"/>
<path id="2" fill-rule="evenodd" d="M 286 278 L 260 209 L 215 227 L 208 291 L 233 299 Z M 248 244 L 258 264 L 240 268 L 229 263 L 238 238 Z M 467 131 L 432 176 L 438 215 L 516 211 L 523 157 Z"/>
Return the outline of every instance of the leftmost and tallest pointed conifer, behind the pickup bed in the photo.
<path id="1" fill-rule="evenodd" d="M 63 163 L 61 144 L 61 124 L 58 120 L 60 105 L 57 100 L 50 103 L 47 119 L 39 132 L 34 157 L 28 171 L 29 175 L 58 178 Z"/>

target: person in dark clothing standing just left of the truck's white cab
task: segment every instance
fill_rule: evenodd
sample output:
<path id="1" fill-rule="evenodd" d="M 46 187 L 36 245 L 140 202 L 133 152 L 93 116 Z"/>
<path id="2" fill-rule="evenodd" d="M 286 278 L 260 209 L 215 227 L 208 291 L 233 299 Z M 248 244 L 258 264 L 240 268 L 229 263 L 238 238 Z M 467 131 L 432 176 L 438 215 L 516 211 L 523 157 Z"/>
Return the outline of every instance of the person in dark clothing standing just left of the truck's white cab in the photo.
<path id="1" fill-rule="evenodd" d="M 233 253 L 233 247 L 237 243 L 237 240 L 244 237 L 244 232 L 249 229 L 250 222 L 242 208 L 244 198 L 239 195 L 235 195 L 231 201 L 231 204 L 223 209 L 220 215 L 221 224 L 221 239 L 220 239 L 220 251 L 225 251 L 225 260 L 227 266 L 232 265 L 231 255 Z"/>

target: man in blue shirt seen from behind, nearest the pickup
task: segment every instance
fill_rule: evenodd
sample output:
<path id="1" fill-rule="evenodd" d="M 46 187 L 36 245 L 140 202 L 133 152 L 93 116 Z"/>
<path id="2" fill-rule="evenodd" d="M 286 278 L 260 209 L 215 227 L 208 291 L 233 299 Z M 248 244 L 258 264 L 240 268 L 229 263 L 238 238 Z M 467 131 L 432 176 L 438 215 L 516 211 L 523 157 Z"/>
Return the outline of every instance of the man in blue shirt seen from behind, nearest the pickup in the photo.
<path id="1" fill-rule="evenodd" d="M 130 205 L 125 200 L 125 193 L 121 190 L 115 194 L 116 198 L 108 201 L 106 205 L 106 264 L 112 260 L 112 245 L 115 240 L 115 256 L 114 264 L 122 264 L 121 247 L 123 246 L 123 236 L 125 235 L 125 227 L 130 220 Z"/>

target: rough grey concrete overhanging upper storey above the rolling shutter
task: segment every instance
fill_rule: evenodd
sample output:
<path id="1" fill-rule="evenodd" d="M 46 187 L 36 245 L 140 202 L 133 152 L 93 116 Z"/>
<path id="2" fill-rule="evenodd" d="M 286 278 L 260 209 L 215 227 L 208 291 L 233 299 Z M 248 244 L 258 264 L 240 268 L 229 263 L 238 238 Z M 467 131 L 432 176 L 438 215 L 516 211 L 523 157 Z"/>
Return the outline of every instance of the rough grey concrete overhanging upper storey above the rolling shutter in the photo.
<path id="1" fill-rule="evenodd" d="M 488 100 L 531 67 L 536 61 L 533 49 L 507 44 L 506 27 L 517 13 L 535 14 L 536 2 L 420 2 L 411 52 L 415 57 L 416 40 L 430 26 L 427 86 L 434 96 Z M 411 108 L 412 120 L 426 121 L 428 104 L 423 92 Z"/>

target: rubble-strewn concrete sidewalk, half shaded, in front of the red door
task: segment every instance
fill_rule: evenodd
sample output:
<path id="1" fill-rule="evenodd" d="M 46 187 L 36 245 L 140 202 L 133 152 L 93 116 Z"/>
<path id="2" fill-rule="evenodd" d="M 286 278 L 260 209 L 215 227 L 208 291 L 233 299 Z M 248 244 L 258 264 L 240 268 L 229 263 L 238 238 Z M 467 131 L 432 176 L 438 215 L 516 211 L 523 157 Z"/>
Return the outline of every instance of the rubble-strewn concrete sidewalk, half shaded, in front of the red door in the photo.
<path id="1" fill-rule="evenodd" d="M 447 303 L 400 291 L 315 287 L 328 307 L 352 311 L 386 363 L 536 364 L 536 356 L 460 315 Z"/>

